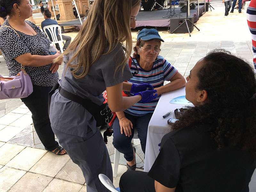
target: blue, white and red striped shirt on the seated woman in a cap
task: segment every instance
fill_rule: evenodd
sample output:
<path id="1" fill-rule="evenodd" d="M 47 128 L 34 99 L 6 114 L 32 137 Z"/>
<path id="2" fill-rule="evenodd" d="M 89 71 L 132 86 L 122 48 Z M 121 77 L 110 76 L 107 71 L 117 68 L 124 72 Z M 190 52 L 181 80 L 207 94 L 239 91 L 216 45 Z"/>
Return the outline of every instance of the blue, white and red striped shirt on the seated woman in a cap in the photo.
<path id="1" fill-rule="evenodd" d="M 135 63 L 132 61 L 131 72 L 136 72 L 137 65 L 139 69 L 139 73 L 129 79 L 128 83 L 134 84 L 142 84 L 148 83 L 151 84 L 154 88 L 161 87 L 164 85 L 164 81 L 170 81 L 172 77 L 176 75 L 178 72 L 167 60 L 165 60 L 162 56 L 157 56 L 156 60 L 153 63 L 153 67 L 151 70 L 146 71 L 140 67 L 136 59 L 133 59 Z M 148 113 L 153 113 L 156 104 L 161 95 L 150 101 L 149 103 L 135 103 L 132 107 L 125 110 L 126 113 L 129 113 L 134 116 L 143 116 Z"/>

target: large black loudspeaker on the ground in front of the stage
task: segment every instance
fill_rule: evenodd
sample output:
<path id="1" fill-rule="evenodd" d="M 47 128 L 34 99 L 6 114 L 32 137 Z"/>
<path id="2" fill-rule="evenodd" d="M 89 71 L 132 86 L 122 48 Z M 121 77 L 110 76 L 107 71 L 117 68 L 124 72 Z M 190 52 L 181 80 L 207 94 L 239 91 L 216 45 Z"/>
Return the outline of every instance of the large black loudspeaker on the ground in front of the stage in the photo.
<path id="1" fill-rule="evenodd" d="M 194 23 L 194 16 L 188 16 L 188 19 Z M 170 19 L 170 33 L 176 29 L 177 27 L 179 27 L 181 25 L 181 23 L 183 23 L 185 21 L 185 18 L 171 18 Z M 188 28 L 189 28 L 189 32 L 191 33 L 194 30 L 194 26 L 187 21 L 188 23 Z M 187 25 L 186 23 L 183 23 L 182 26 L 180 26 L 178 29 L 176 29 L 174 31 L 174 33 L 188 33 L 188 29 L 187 29 Z"/>

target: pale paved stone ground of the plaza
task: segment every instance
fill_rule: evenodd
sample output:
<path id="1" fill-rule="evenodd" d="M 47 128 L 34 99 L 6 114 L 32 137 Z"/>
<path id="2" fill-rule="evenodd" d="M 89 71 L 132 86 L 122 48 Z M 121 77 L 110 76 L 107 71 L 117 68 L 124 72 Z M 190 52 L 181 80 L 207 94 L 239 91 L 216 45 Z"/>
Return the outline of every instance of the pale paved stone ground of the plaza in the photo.
<path id="1" fill-rule="evenodd" d="M 213 5 L 215 10 L 205 13 L 199 19 L 196 26 L 200 28 L 200 32 L 194 29 L 191 37 L 188 34 L 169 34 L 165 29 L 160 30 L 160 35 L 165 40 L 161 55 L 184 77 L 199 59 L 216 48 L 226 49 L 252 64 L 252 43 L 245 15 L 238 14 L 235 10 L 233 14 L 224 17 L 224 5 L 219 1 L 216 5 L 218 6 Z M 231 33 L 234 29 L 236 36 Z M 65 35 L 74 39 L 76 34 L 77 32 L 71 32 Z M 136 41 L 136 30 L 133 30 L 132 36 Z M 3 57 L 0 57 L 0 61 L 0 74 L 7 76 L 8 70 Z M 60 76 L 62 71 L 63 65 L 59 69 Z M 144 154 L 139 140 L 134 140 L 134 146 L 137 167 L 143 168 Z M 112 137 L 108 138 L 107 148 L 113 162 Z M 126 167 L 122 165 L 126 164 L 123 155 L 120 156 L 119 164 L 118 177 L 114 178 L 115 186 L 118 186 L 120 176 L 126 171 Z M 256 176 L 252 178 L 252 182 L 255 183 L 255 180 Z M 56 156 L 43 149 L 28 108 L 20 100 L 0 100 L 0 192 L 22 190 L 86 191 L 82 172 L 69 156 Z M 256 188 L 252 191 L 256 191 Z"/>

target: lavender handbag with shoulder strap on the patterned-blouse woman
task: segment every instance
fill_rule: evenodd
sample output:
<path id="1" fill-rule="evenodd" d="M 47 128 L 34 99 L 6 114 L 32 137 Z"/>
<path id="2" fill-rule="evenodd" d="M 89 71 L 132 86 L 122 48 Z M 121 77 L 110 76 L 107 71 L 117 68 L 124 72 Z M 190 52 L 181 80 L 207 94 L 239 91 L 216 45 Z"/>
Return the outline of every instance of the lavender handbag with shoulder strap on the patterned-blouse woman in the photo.
<path id="1" fill-rule="evenodd" d="M 6 25 L 2 27 L 12 28 Z M 14 29 L 13 31 L 19 36 Z M 17 76 L 3 77 L 0 75 L 0 100 L 25 98 L 28 97 L 28 95 L 30 95 L 32 92 L 33 85 L 30 77 L 25 71 L 24 65 L 21 65 L 21 71 Z"/>

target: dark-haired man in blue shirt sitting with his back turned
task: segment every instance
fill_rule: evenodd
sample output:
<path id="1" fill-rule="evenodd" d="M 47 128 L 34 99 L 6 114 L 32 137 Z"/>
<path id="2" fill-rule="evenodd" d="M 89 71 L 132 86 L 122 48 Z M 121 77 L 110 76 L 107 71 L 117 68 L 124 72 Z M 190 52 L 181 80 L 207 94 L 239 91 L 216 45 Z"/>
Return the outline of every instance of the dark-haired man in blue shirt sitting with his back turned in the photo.
<path id="1" fill-rule="evenodd" d="M 42 21 L 41 23 L 41 27 L 42 29 L 45 27 L 45 26 L 48 26 L 48 25 L 58 25 L 57 21 L 56 20 L 52 20 L 51 19 L 51 16 L 52 16 L 52 13 L 49 11 L 49 10 L 45 10 L 44 11 L 44 21 Z M 46 30 L 46 33 L 48 34 L 48 36 L 50 37 L 50 41 L 52 41 L 52 36 L 51 36 L 51 33 Z M 60 41 L 60 35 L 59 35 L 59 32 L 58 32 L 58 29 L 56 28 L 56 35 L 57 35 L 57 39 Z M 64 41 L 66 41 L 65 45 L 63 46 L 63 51 L 65 51 L 68 47 L 68 45 L 70 44 L 71 42 L 71 37 L 70 36 L 65 36 L 65 35 L 61 35 L 62 36 L 62 39 Z M 56 45 L 56 48 L 60 51 L 60 46 L 59 44 L 55 44 Z"/>

